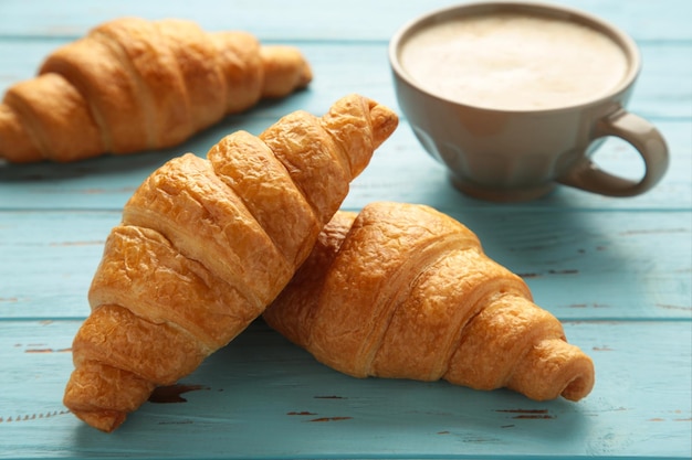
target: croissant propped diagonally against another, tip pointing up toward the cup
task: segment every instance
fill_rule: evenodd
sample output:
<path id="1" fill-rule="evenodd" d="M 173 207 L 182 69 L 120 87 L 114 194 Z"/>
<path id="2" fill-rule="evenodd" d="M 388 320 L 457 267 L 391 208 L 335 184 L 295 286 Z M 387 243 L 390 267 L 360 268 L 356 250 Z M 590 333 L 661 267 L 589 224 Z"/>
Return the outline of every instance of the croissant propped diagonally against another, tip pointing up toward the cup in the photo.
<path id="1" fill-rule="evenodd" d="M 175 158 L 125 204 L 72 345 L 64 404 L 104 431 L 256 319 L 308 256 L 397 116 L 358 95 Z"/>

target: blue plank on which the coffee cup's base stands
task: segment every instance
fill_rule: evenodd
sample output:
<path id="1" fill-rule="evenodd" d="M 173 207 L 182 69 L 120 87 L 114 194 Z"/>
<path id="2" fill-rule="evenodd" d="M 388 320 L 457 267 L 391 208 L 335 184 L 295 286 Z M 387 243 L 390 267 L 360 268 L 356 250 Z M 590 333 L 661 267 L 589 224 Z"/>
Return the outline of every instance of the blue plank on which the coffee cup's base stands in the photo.
<path id="1" fill-rule="evenodd" d="M 286 101 L 286 110 L 294 108 Z M 221 124 L 177 148 L 124 157 L 102 157 L 80 163 L 0 167 L 0 210 L 122 210 L 135 189 L 168 159 L 192 151 L 203 156 L 227 132 L 261 132 L 274 120 L 238 119 Z M 357 178 L 345 207 L 379 200 L 432 204 L 444 210 L 469 207 L 535 210 L 690 210 L 692 207 L 692 137 L 689 122 L 660 124 L 671 146 L 671 168 L 660 184 L 633 199 L 614 199 L 559 186 L 525 204 L 497 205 L 472 200 L 453 189 L 444 168 L 429 157 L 402 121 Z M 596 159 L 604 168 L 637 178 L 640 160 L 629 146 L 609 141 Z"/>

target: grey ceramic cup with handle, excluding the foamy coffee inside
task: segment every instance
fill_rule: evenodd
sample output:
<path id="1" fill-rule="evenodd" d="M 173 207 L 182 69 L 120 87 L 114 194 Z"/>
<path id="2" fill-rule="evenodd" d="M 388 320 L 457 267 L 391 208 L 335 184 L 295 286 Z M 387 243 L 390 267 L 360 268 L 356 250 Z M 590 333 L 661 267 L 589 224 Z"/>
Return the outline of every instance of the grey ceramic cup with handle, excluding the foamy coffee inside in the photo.
<path id="1" fill-rule="evenodd" d="M 590 100 L 545 109 L 507 109 L 460 101 L 426 88 L 411 75 L 410 64 L 402 64 L 402 52 L 417 32 L 444 21 L 496 13 L 568 21 L 601 32 L 622 51 L 623 76 Z M 516 46 L 522 46 L 521 41 Z M 627 34 L 590 14 L 543 3 L 464 3 L 405 24 L 390 41 L 389 61 L 399 106 L 416 137 L 447 165 L 452 183 L 468 195 L 526 201 L 564 184 L 602 195 L 633 196 L 653 188 L 668 169 L 661 133 L 626 109 L 640 72 L 639 50 Z M 643 159 L 640 180 L 601 170 L 593 159 L 611 136 L 629 142 Z"/>

